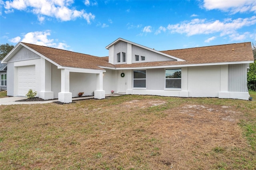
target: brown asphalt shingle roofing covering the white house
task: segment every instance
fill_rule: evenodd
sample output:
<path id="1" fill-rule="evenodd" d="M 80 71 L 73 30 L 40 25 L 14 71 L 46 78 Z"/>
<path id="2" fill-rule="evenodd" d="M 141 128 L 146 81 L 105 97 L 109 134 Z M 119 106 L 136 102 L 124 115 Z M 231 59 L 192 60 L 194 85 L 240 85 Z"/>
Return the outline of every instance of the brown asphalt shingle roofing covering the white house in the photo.
<path id="1" fill-rule="evenodd" d="M 93 55 L 76 53 L 52 47 L 23 43 L 24 45 L 41 53 L 45 57 L 64 67 L 76 67 L 84 69 L 100 69 L 98 66 L 112 68 L 129 67 L 155 67 L 168 65 L 187 65 L 204 63 L 224 63 L 236 61 L 253 61 L 252 46 L 250 42 L 233 43 L 226 45 L 213 45 L 188 49 L 176 49 L 160 51 L 185 61 L 154 61 L 132 64 L 110 64 L 108 57 L 96 57 Z"/>

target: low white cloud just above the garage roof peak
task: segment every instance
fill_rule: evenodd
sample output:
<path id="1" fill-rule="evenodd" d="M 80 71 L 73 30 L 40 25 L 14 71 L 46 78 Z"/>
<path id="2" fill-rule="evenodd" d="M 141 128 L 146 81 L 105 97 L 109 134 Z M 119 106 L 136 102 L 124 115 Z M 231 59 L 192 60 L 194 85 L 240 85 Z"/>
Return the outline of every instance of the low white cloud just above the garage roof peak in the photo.
<path id="1" fill-rule="evenodd" d="M 48 36 L 50 36 L 51 33 L 49 30 L 45 32 L 28 32 L 21 38 L 20 36 L 17 36 L 15 38 L 10 39 L 9 41 L 12 43 L 18 43 L 18 42 L 26 42 L 26 43 L 32 43 L 36 45 L 44 45 L 47 47 L 54 47 L 59 49 L 67 49 L 69 46 L 66 43 L 61 42 L 55 42 L 54 39 L 49 39 Z"/>

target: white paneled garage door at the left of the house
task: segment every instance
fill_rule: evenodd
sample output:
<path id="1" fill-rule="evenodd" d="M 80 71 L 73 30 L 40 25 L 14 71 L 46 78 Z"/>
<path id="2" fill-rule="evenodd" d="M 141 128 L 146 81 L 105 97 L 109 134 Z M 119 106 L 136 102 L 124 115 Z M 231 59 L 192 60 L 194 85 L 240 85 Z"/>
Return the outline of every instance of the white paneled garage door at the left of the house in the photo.
<path id="1" fill-rule="evenodd" d="M 29 89 L 36 90 L 35 65 L 18 67 L 18 95 L 26 96 Z"/>

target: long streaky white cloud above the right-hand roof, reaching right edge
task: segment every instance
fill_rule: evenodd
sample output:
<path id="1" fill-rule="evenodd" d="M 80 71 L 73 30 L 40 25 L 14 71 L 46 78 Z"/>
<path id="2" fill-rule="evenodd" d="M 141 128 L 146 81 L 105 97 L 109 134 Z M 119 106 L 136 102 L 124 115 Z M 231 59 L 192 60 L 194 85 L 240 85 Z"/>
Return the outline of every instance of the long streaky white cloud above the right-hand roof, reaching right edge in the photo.
<path id="1" fill-rule="evenodd" d="M 194 19 L 190 22 L 182 22 L 181 24 L 168 25 L 167 29 L 171 33 L 186 34 L 193 36 L 197 34 L 211 34 L 220 32 L 221 36 L 234 33 L 244 26 L 251 26 L 256 24 L 256 16 L 251 18 L 238 18 L 236 20 L 220 20 L 207 21 L 206 19 Z"/>

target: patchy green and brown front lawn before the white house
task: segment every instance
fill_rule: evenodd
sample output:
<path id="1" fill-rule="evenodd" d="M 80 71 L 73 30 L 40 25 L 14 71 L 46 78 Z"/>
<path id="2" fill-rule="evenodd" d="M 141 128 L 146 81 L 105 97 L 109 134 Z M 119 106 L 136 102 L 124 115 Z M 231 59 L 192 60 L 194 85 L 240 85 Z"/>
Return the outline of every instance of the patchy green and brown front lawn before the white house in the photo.
<path id="1" fill-rule="evenodd" d="M 0 106 L 0 167 L 252 170 L 250 94 L 253 101 L 124 95 Z"/>

